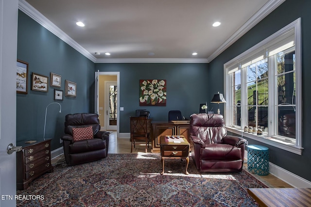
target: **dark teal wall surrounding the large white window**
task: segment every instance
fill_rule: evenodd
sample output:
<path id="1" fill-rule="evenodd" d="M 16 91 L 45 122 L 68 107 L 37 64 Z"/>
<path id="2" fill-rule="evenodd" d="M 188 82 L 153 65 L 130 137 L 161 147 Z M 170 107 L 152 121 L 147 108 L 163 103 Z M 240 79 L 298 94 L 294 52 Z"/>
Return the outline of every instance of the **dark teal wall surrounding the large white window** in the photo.
<path id="1" fill-rule="evenodd" d="M 296 175 L 311 181 L 311 96 L 309 93 L 311 77 L 311 1 L 310 0 L 286 0 L 269 16 L 264 18 L 253 29 L 243 35 L 231 47 L 227 48 L 221 55 L 209 63 L 208 88 L 215 89 L 223 87 L 224 82 L 215 82 L 214 77 L 224 75 L 224 64 L 245 50 L 253 47 L 268 36 L 277 32 L 297 18 L 301 17 L 302 28 L 302 144 L 304 147 L 302 155 L 278 149 L 251 139 L 249 144 L 260 144 L 269 147 L 270 162 L 284 168 Z"/>

